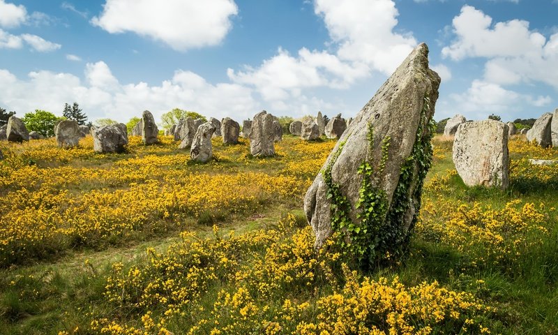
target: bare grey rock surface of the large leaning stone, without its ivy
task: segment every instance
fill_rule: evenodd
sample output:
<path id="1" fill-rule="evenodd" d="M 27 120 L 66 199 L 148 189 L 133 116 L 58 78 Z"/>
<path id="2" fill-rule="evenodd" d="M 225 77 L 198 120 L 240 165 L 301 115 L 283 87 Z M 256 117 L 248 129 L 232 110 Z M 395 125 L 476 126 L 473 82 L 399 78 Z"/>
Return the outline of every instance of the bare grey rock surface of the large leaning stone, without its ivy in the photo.
<path id="1" fill-rule="evenodd" d="M 407 181 L 401 184 L 404 189 L 397 193 L 400 196 L 399 203 L 404 203 L 405 207 L 392 207 L 392 200 L 402 178 L 402 167 L 412 159 L 410 157 L 415 142 L 418 139 L 418 144 L 422 145 L 430 139 L 428 125 L 434 114 L 439 84 L 440 77 L 428 67 L 428 47 L 425 44 L 418 45 L 384 82 L 375 96 L 356 114 L 351 127 L 342 133 L 329 154 L 322 171 L 331 167 L 331 181 L 339 186 L 340 193 L 347 198 L 350 204 L 348 215 L 355 224 L 361 222 L 356 217 L 361 211 L 356 209 L 356 202 L 359 200 L 363 181 L 363 175 L 358 173 L 359 166 L 368 161 L 372 167 L 378 167 L 382 162 L 382 142 L 389 138 L 385 166 L 370 181 L 374 188 L 385 192 L 388 211 L 386 216 L 381 218 L 382 225 L 396 226 L 398 231 L 406 234 L 405 236 L 412 230 L 420 209 L 420 191 L 423 183 L 423 179 L 416 177 L 420 166 L 416 160 L 412 160 L 412 165 L 407 169 L 412 172 L 410 179 L 406 177 Z M 369 124 L 373 128 L 372 146 L 368 140 Z M 314 230 L 317 248 L 333 233 L 332 199 L 328 197 L 328 189 L 324 175 L 320 172 L 304 198 L 304 211 L 308 223 Z M 386 221 L 388 217 L 398 219 Z M 405 243 L 405 239 L 397 239 L 393 243 L 402 244 Z"/>

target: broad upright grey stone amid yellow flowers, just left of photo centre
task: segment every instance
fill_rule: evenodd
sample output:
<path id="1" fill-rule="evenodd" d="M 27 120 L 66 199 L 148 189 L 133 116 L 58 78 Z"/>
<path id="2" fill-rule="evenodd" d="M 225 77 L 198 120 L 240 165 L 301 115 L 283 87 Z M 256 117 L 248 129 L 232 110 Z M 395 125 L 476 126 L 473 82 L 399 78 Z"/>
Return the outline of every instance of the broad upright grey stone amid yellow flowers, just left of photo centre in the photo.
<path id="1" fill-rule="evenodd" d="M 265 110 L 255 114 L 250 129 L 250 154 L 259 157 L 273 156 L 275 154 L 273 115 L 267 114 Z"/>

